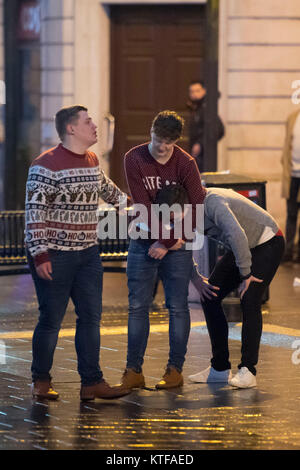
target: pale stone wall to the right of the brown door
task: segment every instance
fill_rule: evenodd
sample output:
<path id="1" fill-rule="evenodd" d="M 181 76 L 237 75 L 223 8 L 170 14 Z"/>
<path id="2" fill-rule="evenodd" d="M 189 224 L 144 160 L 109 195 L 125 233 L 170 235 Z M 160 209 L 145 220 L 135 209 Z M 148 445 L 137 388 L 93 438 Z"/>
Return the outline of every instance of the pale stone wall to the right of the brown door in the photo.
<path id="1" fill-rule="evenodd" d="M 221 0 L 219 168 L 266 179 L 269 211 L 285 224 L 281 149 L 300 79 L 300 2 Z M 299 88 L 299 87 L 298 87 Z"/>

